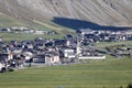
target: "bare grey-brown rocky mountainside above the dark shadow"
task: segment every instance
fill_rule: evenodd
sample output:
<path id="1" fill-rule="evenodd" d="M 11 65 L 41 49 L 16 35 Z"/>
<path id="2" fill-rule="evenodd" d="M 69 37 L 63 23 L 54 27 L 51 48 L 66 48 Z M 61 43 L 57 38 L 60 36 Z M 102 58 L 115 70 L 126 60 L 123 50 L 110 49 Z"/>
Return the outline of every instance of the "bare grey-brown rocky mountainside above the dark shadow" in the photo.
<path id="1" fill-rule="evenodd" d="M 21 20 L 68 18 L 100 25 L 132 25 L 132 0 L 0 0 L 0 12 Z"/>

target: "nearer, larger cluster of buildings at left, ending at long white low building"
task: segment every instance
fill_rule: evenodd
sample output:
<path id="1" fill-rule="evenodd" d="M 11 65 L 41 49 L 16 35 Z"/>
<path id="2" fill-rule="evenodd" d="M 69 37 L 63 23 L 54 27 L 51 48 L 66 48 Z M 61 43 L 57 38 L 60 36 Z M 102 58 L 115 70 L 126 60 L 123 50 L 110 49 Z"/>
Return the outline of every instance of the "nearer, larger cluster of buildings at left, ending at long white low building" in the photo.
<path id="1" fill-rule="evenodd" d="M 105 59 L 106 57 L 95 47 L 81 47 L 79 38 L 67 35 L 66 38 L 42 38 L 32 41 L 0 42 L 0 62 L 6 65 L 15 64 L 15 67 L 29 63 L 43 63 L 45 65 L 61 65 L 78 63 L 79 59 Z M 90 51 L 89 51 L 90 50 Z M 14 66 L 14 65 L 13 65 Z"/>

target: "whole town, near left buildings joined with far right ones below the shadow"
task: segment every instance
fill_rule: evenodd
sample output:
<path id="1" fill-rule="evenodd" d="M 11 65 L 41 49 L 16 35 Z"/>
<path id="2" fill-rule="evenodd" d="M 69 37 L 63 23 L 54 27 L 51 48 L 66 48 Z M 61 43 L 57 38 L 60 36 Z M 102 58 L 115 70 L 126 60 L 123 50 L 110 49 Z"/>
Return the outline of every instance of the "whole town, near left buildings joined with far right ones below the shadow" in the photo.
<path id="1" fill-rule="evenodd" d="M 77 35 L 65 38 L 42 38 L 32 41 L 0 41 L 0 67 L 22 67 L 32 64 L 62 65 L 86 59 L 106 59 L 106 54 L 92 44 L 98 42 L 132 41 L 132 33 L 120 31 L 78 30 Z"/>

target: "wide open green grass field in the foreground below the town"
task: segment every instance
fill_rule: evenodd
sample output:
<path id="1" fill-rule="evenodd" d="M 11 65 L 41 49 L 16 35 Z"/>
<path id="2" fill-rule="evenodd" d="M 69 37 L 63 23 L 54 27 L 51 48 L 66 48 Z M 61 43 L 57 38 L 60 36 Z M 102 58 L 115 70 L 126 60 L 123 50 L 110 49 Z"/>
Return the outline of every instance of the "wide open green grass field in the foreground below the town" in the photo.
<path id="1" fill-rule="evenodd" d="M 0 74 L 0 88 L 125 88 L 131 82 L 130 58 Z"/>

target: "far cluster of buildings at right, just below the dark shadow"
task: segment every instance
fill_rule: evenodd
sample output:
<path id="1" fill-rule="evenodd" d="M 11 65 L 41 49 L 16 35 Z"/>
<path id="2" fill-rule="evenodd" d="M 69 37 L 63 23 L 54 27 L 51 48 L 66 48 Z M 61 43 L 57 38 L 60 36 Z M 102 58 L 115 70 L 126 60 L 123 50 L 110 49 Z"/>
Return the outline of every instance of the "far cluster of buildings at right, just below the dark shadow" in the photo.
<path id="1" fill-rule="evenodd" d="M 78 30 L 82 38 L 90 42 L 118 42 L 132 41 L 132 31 L 94 31 L 90 29 Z"/>

